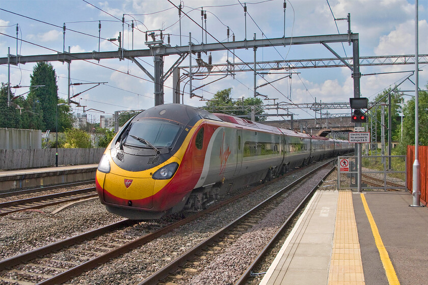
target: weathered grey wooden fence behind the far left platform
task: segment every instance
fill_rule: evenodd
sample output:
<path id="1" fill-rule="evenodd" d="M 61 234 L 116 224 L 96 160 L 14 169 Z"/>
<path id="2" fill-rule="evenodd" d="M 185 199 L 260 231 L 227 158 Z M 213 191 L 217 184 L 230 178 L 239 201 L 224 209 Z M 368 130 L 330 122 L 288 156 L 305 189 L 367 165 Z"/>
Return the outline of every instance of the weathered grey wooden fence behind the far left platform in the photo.
<path id="1" fill-rule="evenodd" d="M 98 163 L 105 148 L 58 149 L 59 165 Z M 0 150 L 0 169 L 55 166 L 56 149 Z"/>

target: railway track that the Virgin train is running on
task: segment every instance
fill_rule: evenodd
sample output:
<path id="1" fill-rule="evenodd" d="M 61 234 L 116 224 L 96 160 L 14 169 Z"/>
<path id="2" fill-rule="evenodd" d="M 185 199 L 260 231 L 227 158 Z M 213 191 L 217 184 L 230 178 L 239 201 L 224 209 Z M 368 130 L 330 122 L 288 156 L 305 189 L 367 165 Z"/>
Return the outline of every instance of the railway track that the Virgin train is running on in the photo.
<path id="1" fill-rule="evenodd" d="M 0 272 L 0 280 L 20 284 L 58 284 L 65 282 L 73 276 L 78 276 L 86 270 L 118 257 L 133 248 L 144 245 L 185 223 L 189 223 L 208 212 L 215 211 L 231 203 L 231 201 L 247 195 L 249 192 L 256 191 L 260 187 L 262 185 L 161 229 L 156 230 L 155 226 L 151 226 L 151 232 L 141 238 L 118 240 L 117 237 L 110 239 L 109 236 L 105 236 L 105 233 L 109 231 L 113 231 L 114 236 L 115 229 L 125 226 L 123 223 L 133 224 L 131 221 L 125 220 L 104 227 L 105 229 L 102 230 L 94 230 L 84 235 L 16 255 L 0 261 L 0 270 L 2 270 Z M 43 274 L 40 274 L 40 272 L 43 272 Z"/>

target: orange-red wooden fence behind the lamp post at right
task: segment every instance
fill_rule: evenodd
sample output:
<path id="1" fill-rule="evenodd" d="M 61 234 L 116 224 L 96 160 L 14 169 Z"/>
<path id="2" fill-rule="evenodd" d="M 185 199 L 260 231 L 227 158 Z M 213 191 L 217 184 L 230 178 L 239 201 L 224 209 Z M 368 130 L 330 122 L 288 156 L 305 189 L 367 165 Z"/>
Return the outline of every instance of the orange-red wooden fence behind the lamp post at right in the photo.
<path id="1" fill-rule="evenodd" d="M 426 206 L 428 202 L 428 146 L 419 146 L 418 160 L 420 164 L 420 200 Z M 413 162 L 415 146 L 407 146 L 407 189 L 413 191 Z"/>

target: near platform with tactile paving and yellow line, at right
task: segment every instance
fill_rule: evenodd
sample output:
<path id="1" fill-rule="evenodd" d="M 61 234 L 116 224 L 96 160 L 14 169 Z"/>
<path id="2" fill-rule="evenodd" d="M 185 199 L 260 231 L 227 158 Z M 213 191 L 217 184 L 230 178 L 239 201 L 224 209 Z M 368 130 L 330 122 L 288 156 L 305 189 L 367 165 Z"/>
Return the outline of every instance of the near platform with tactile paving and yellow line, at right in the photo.
<path id="1" fill-rule="evenodd" d="M 317 191 L 260 284 L 426 283 L 428 209 L 412 198 Z"/>

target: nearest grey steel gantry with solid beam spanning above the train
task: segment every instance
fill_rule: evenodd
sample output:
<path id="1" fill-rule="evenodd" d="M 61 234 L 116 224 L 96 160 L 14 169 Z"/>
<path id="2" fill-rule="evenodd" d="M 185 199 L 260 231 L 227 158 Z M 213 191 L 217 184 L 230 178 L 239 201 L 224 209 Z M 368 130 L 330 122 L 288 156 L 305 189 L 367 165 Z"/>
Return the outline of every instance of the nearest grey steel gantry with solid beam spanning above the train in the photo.
<path id="1" fill-rule="evenodd" d="M 191 36 L 191 35 L 189 35 Z M 353 44 L 353 63 L 350 65 L 341 59 L 327 44 L 349 42 Z M 306 37 L 292 37 L 292 38 L 276 38 L 276 39 L 261 39 L 261 40 L 244 40 L 236 42 L 224 43 L 211 43 L 195 45 L 191 41 L 188 46 L 170 47 L 168 45 L 152 46 L 150 49 L 140 50 L 125 50 L 119 48 L 117 51 L 93 51 L 93 52 L 79 52 L 67 53 L 58 52 L 57 54 L 40 54 L 40 55 L 12 55 L 8 54 L 6 58 L 0 58 L 0 64 L 25 64 L 34 62 L 72 62 L 75 60 L 104 60 L 104 59 L 129 59 L 136 63 L 153 81 L 154 81 L 154 96 L 155 105 L 164 103 L 164 82 L 173 73 L 176 67 L 184 60 L 187 55 L 192 55 L 196 52 L 209 52 L 217 50 L 233 50 L 233 49 L 248 49 L 268 46 L 287 46 L 287 45 L 301 45 L 301 44 L 323 44 L 329 49 L 337 58 L 352 70 L 352 77 L 354 79 L 354 97 L 360 97 L 360 59 L 359 59 L 359 39 L 358 34 L 340 34 L 340 35 L 322 35 L 322 36 L 306 36 Z M 180 55 L 175 64 L 164 73 L 164 56 L 167 55 Z M 138 63 L 137 58 L 152 56 L 154 59 L 154 75 L 151 75 L 141 64 Z M 190 61 L 192 62 L 192 61 Z M 254 70 L 254 68 L 250 68 Z M 177 92 L 174 92 L 177 96 Z M 175 101 L 174 99 L 173 101 Z"/>

